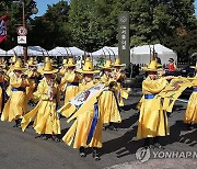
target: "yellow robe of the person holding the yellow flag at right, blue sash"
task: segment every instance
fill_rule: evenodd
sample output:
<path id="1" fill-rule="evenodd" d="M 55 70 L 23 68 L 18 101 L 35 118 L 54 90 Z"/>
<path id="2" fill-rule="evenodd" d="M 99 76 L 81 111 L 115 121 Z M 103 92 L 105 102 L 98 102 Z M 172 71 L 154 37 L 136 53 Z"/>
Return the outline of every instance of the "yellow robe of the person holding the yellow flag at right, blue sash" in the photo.
<path id="1" fill-rule="evenodd" d="M 151 80 L 149 77 L 142 82 L 140 116 L 137 137 L 147 138 L 170 134 L 166 112 L 162 110 L 161 99 L 157 94 L 167 84 L 166 79 Z M 146 99 L 146 94 L 154 94 L 153 99 Z"/>

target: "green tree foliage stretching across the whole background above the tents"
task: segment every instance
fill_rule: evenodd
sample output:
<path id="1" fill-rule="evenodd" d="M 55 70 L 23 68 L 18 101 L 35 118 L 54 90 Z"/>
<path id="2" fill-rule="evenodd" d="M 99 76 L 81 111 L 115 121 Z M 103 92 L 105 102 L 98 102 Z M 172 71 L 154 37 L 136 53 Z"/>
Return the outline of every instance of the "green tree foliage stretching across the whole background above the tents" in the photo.
<path id="1" fill-rule="evenodd" d="M 48 5 L 43 16 L 32 19 L 34 0 L 25 0 L 28 45 L 46 49 L 78 46 L 93 52 L 118 44 L 118 14 L 130 13 L 130 46 L 161 43 L 186 59 L 197 52 L 194 0 L 61 0 Z M 47 3 L 47 2 L 46 2 Z M 0 2 L 0 15 L 9 11 L 7 45 L 16 45 L 16 24 L 22 24 L 22 4 Z M 30 26 L 33 25 L 33 26 Z M 12 41 L 13 40 L 13 41 Z"/>

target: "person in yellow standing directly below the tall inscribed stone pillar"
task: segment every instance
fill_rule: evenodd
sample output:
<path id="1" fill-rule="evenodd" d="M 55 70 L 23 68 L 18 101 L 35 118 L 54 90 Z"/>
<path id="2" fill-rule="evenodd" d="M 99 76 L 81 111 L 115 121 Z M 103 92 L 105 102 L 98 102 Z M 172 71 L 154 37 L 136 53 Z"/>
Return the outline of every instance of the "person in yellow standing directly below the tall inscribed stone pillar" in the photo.
<path id="1" fill-rule="evenodd" d="M 119 103 L 119 106 L 124 106 L 123 98 L 128 98 L 128 91 L 121 89 L 121 83 L 126 79 L 126 75 L 123 72 L 121 68 L 124 67 L 124 64 L 120 64 L 119 58 L 117 58 L 114 63 L 115 70 L 112 72 L 112 76 L 115 81 L 117 81 L 117 90 L 116 90 L 116 97 Z"/>

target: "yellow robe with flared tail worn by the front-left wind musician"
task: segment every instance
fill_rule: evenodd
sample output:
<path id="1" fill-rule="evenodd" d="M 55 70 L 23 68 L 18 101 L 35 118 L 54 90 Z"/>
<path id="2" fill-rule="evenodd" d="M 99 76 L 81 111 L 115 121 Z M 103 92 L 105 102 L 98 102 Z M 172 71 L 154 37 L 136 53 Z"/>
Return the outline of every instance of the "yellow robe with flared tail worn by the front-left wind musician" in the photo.
<path id="1" fill-rule="evenodd" d="M 35 98 L 39 99 L 39 102 L 31 112 L 23 116 L 21 122 L 22 131 L 26 128 L 28 123 L 34 119 L 37 113 L 37 116 L 34 121 L 33 127 L 37 134 L 60 134 L 60 122 L 57 116 L 56 106 L 59 103 L 59 89 L 58 83 L 53 84 L 53 93 L 55 98 L 53 101 L 49 100 L 48 95 L 49 86 L 44 78 L 38 87 L 37 91 L 34 92 Z"/>

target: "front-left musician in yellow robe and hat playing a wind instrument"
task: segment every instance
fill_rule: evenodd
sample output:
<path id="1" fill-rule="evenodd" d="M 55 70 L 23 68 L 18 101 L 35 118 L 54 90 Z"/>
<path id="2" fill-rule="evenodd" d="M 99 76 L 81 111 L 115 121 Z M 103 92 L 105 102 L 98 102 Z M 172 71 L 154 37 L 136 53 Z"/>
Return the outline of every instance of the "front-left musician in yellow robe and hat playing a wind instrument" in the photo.
<path id="1" fill-rule="evenodd" d="M 59 116 L 57 114 L 59 89 L 58 83 L 54 79 L 54 74 L 57 71 L 58 69 L 54 69 L 49 61 L 45 63 L 44 68 L 39 70 L 44 79 L 38 83 L 37 90 L 34 92 L 34 98 L 38 99 L 39 102 L 31 112 L 24 115 L 21 126 L 24 132 L 37 113 L 33 124 L 36 133 L 43 136 L 43 139 L 48 139 L 51 136 L 54 140 L 59 142 L 57 137 L 61 133 Z"/>

